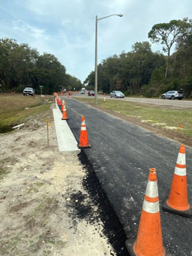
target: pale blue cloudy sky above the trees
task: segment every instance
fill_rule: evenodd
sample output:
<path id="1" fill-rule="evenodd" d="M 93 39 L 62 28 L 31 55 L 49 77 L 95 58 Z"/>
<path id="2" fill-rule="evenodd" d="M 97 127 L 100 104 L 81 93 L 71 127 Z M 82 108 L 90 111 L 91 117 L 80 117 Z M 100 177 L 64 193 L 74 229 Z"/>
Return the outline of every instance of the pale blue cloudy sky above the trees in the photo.
<path id="1" fill-rule="evenodd" d="M 0 38 L 55 55 L 84 82 L 94 71 L 96 15 L 114 15 L 98 21 L 99 64 L 131 52 L 136 42 L 150 42 L 154 24 L 192 18 L 192 0 L 0 0 Z M 162 52 L 161 45 L 151 48 Z"/>

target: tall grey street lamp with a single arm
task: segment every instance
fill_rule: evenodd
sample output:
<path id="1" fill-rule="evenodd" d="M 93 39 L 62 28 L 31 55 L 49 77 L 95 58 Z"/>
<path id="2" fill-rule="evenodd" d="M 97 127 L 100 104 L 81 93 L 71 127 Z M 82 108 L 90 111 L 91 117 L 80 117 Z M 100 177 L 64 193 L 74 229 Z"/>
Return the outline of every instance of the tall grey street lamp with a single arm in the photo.
<path id="1" fill-rule="evenodd" d="M 94 105 L 98 105 L 98 21 L 111 16 L 123 17 L 121 14 L 108 15 L 102 18 L 98 18 L 96 15 L 95 19 L 95 58 L 94 58 Z"/>

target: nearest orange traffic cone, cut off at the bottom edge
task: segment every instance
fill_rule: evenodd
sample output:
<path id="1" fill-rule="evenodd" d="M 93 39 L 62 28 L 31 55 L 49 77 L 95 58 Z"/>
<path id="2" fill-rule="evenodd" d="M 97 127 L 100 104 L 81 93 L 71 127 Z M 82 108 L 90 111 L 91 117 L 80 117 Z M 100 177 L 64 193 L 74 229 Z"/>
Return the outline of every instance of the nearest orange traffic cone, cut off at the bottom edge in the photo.
<path id="1" fill-rule="evenodd" d="M 125 245 L 131 256 L 171 255 L 163 245 L 155 168 L 150 169 L 137 239 L 128 239 Z"/>

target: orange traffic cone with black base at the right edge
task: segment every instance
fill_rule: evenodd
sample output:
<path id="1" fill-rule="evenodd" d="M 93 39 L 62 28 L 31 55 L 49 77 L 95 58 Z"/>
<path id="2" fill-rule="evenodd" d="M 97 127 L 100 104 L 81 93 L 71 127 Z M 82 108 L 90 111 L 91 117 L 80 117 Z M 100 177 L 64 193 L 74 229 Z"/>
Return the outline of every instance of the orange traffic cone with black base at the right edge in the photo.
<path id="1" fill-rule="evenodd" d="M 184 145 L 180 145 L 170 194 L 168 198 L 165 198 L 163 210 L 184 217 L 192 217 L 192 211 L 187 198 L 187 172 Z"/>

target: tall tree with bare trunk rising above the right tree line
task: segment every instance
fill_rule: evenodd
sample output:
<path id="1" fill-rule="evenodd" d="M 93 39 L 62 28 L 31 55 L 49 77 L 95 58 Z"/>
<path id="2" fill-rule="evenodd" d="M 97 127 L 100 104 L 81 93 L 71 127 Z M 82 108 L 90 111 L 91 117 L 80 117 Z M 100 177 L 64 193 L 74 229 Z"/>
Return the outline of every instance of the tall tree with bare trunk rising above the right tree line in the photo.
<path id="1" fill-rule="evenodd" d="M 178 38 L 189 29 L 190 24 L 187 21 L 188 19 L 184 18 L 183 21 L 172 20 L 169 23 L 159 23 L 154 25 L 148 33 L 148 38 L 151 38 L 152 42 L 160 42 L 161 45 L 164 45 L 163 51 L 167 52 L 165 78 L 167 78 L 170 49 L 177 42 Z"/>

